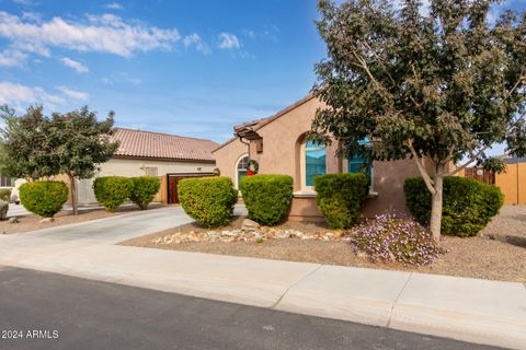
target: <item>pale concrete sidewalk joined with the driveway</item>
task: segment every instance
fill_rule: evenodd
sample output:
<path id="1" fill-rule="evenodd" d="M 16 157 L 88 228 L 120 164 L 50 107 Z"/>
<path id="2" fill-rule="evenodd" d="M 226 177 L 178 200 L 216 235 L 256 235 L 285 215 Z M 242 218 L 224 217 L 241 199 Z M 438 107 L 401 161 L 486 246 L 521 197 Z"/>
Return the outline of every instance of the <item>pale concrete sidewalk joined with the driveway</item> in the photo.
<path id="1" fill-rule="evenodd" d="M 522 283 L 115 245 L 190 221 L 171 207 L 0 236 L 0 265 L 526 349 Z"/>

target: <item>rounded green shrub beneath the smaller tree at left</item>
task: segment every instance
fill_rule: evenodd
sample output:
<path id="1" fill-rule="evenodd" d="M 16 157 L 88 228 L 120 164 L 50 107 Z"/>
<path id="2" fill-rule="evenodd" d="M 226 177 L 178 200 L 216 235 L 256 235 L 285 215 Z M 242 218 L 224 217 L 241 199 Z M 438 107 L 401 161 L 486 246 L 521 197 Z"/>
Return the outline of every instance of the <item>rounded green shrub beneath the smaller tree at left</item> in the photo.
<path id="1" fill-rule="evenodd" d="M 68 200 L 68 186 L 62 182 L 34 182 L 20 186 L 20 202 L 28 211 L 53 218 Z"/>

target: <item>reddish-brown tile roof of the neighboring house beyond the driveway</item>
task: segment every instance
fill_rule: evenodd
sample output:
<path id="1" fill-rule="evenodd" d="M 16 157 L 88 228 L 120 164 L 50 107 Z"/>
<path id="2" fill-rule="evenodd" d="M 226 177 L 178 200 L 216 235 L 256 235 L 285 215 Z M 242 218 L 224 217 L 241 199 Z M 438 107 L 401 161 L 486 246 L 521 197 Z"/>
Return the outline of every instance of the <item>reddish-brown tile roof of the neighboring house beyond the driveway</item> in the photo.
<path id="1" fill-rule="evenodd" d="M 218 147 L 210 140 L 124 128 L 116 128 L 113 138 L 121 142 L 117 156 L 214 162 L 211 151 Z"/>

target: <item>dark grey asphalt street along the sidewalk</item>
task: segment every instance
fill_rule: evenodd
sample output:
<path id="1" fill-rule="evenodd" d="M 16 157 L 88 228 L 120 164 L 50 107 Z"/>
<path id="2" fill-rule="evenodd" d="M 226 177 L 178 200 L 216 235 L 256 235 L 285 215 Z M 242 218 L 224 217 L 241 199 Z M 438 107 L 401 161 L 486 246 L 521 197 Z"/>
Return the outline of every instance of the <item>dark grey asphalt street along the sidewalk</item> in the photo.
<path id="1" fill-rule="evenodd" d="M 496 349 L 10 267 L 0 285 L 0 349 Z"/>

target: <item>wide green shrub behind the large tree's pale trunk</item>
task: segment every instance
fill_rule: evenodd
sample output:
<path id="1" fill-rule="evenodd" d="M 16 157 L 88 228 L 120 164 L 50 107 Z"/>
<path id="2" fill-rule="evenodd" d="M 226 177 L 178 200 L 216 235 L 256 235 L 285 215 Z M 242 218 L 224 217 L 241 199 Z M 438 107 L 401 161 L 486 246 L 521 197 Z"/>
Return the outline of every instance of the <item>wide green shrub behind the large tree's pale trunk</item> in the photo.
<path id="1" fill-rule="evenodd" d="M 411 214 L 423 225 L 431 220 L 431 192 L 422 177 L 405 179 L 405 203 Z M 476 179 L 448 176 L 444 178 L 442 232 L 472 236 L 491 221 L 504 203 L 499 187 Z"/>

